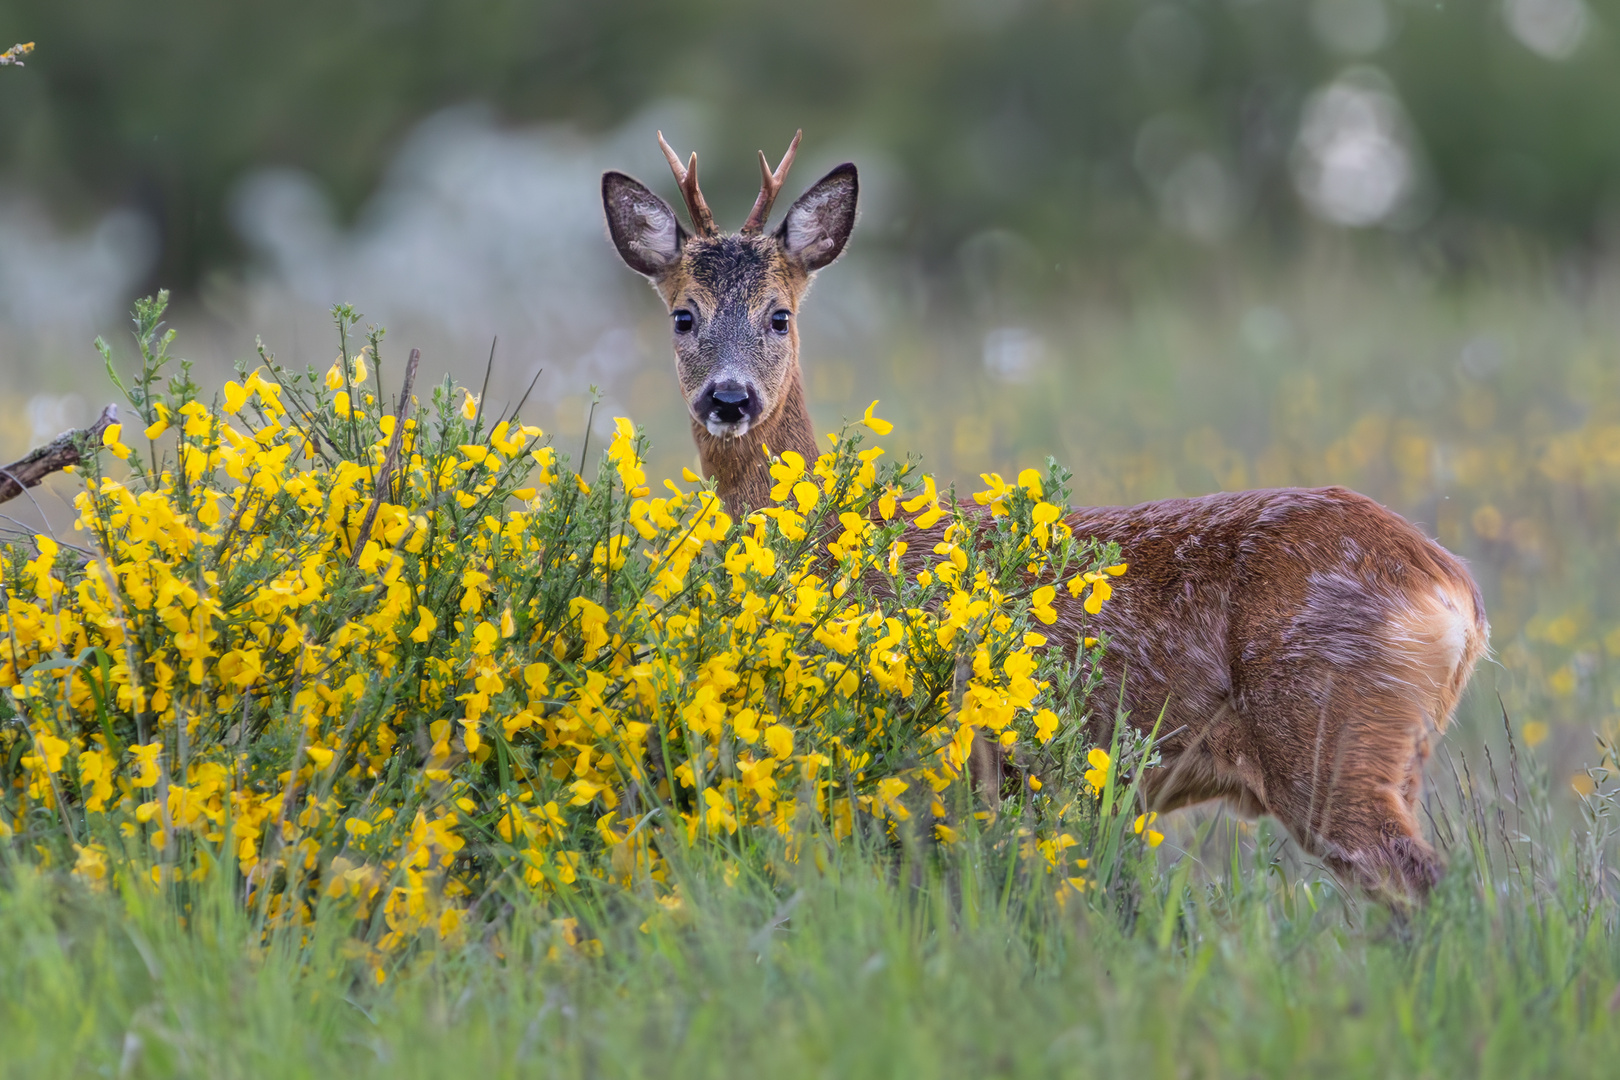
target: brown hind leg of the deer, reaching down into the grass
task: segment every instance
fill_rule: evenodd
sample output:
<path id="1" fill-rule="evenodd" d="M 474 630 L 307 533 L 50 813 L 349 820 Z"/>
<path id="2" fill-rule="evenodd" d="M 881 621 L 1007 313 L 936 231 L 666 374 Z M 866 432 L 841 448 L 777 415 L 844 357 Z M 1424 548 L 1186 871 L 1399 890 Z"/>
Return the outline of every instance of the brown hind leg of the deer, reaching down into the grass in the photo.
<path id="1" fill-rule="evenodd" d="M 1434 730 L 1426 695 L 1330 675 L 1320 693 L 1291 690 L 1288 704 L 1277 696 L 1265 711 L 1265 729 L 1290 737 L 1256 740 L 1267 811 L 1367 892 L 1421 899 L 1443 870 L 1418 821 Z"/>

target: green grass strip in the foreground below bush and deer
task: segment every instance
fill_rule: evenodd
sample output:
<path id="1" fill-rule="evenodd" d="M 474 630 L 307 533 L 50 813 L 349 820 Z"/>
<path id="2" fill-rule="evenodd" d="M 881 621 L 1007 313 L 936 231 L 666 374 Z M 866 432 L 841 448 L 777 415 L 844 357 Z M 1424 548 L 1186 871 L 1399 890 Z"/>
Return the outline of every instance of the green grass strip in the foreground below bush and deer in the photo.
<path id="1" fill-rule="evenodd" d="M 1615 806 L 1570 827 L 1528 763 L 1442 767 L 1452 868 L 1406 915 L 1220 818 L 1058 904 L 1004 818 L 946 863 L 846 844 L 731 884 L 685 863 L 682 912 L 646 931 L 625 899 L 573 908 L 599 957 L 512 894 L 381 988 L 335 926 L 259 947 L 217 889 L 180 920 L 13 863 L 0 1075 L 1607 1075 Z"/>

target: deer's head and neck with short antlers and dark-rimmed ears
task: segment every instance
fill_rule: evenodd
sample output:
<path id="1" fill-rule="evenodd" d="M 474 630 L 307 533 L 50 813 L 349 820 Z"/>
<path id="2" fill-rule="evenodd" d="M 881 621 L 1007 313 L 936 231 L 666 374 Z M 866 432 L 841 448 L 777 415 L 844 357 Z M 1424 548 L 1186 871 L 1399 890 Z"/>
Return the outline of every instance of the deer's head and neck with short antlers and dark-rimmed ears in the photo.
<path id="1" fill-rule="evenodd" d="M 755 473 L 763 473 L 761 444 L 778 453 L 815 455 L 799 374 L 799 304 L 815 272 L 844 251 L 859 185 L 855 167 L 839 165 L 766 233 L 802 134 L 774 170 L 760 154 L 760 196 L 742 230 L 729 236 L 703 201 L 698 155 L 682 165 L 663 133 L 658 144 L 685 199 L 690 233 L 645 185 L 619 172 L 603 173 L 608 230 L 619 256 L 653 283 L 669 309 L 692 434 L 727 502 L 757 505 L 752 487 Z"/>

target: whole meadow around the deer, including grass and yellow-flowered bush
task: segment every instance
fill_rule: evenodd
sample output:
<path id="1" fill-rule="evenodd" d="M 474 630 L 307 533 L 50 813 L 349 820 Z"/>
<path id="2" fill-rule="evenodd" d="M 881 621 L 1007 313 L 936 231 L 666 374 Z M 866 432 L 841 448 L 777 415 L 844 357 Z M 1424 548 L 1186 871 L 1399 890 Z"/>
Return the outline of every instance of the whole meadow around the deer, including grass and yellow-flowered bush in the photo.
<path id="1" fill-rule="evenodd" d="M 403 350 L 358 321 L 330 369 L 214 385 L 147 309 L 112 361 L 139 419 L 57 481 L 94 484 L 86 531 L 8 546 L 0 1072 L 1601 1074 L 1620 327 L 1602 274 L 1508 266 L 1121 270 L 1056 313 L 896 319 L 876 364 L 812 332 L 818 418 L 883 403 L 761 523 L 659 487 L 688 449 L 651 393 L 651 445 L 616 426 L 599 458 L 549 403 L 530 432 L 418 385 L 407 444 Z M 1022 531 L 941 552 L 922 614 L 859 585 L 902 531 L 807 573 L 823 504 L 944 515 L 990 468 Z M 1106 602 L 1110 552 L 1011 539 L 1043 505 L 1315 483 L 1426 523 L 1490 609 L 1430 767 L 1450 873 L 1411 912 L 1265 823 L 1137 816 L 1152 748 L 1069 733 L 1105 708 L 1085 654 L 1045 656 L 1011 586 L 1037 559 Z M 953 701 L 957 633 L 985 662 Z M 978 810 L 964 729 L 1051 790 Z"/>

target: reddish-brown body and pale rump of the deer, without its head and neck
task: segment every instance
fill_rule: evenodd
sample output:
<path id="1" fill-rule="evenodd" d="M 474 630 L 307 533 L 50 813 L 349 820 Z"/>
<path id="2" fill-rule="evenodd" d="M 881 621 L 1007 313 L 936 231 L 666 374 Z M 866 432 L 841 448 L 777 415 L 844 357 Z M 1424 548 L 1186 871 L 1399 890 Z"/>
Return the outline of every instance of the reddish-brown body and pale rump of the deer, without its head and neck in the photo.
<path id="1" fill-rule="evenodd" d="M 1064 651 L 1108 640 L 1094 743 L 1108 745 L 1121 701 L 1132 727 L 1174 733 L 1142 779 L 1150 808 L 1270 814 L 1372 892 L 1439 879 L 1416 814 L 1422 769 L 1489 640 L 1455 555 L 1345 487 L 1090 507 L 1066 523 L 1118 542 L 1131 568 L 1097 615 L 1059 589 L 1047 633 Z M 975 755 L 991 797 L 1003 767 Z"/>

